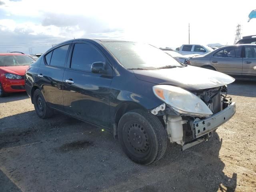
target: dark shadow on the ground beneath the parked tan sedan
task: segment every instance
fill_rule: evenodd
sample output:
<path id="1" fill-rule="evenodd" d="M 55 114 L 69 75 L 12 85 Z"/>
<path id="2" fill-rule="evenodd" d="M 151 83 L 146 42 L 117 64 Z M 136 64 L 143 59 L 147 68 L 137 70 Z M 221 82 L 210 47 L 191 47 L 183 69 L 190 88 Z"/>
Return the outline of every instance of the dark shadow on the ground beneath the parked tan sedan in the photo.
<path id="1" fill-rule="evenodd" d="M 256 97 L 256 81 L 236 80 L 228 85 L 228 94 L 245 97 Z"/>

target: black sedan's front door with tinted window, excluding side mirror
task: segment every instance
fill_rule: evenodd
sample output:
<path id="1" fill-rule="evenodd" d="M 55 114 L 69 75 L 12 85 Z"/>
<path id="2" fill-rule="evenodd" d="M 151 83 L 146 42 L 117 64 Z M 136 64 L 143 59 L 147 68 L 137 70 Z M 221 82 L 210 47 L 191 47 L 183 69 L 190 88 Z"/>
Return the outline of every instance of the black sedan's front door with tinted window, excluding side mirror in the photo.
<path id="1" fill-rule="evenodd" d="M 63 77 L 64 109 L 90 122 L 110 126 L 112 68 L 102 52 L 89 42 L 76 42 L 70 68 Z M 94 62 L 105 62 L 106 73 L 92 73 Z"/>

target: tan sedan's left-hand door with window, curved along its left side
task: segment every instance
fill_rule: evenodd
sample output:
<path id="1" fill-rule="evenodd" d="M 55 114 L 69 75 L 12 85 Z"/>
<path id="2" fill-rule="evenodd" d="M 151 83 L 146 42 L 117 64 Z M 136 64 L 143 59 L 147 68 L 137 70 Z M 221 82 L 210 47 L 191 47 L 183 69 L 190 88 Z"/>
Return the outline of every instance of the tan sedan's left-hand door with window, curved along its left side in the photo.
<path id="1" fill-rule="evenodd" d="M 242 46 L 229 46 L 215 52 L 210 62 L 219 72 L 230 75 L 241 75 L 243 59 Z"/>

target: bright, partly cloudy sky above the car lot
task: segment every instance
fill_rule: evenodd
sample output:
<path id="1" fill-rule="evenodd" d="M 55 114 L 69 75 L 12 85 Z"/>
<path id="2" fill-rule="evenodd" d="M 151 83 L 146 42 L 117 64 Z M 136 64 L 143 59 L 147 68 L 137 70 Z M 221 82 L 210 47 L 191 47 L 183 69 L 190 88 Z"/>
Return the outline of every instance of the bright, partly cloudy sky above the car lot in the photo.
<path id="1" fill-rule="evenodd" d="M 0 52 L 43 53 L 74 38 L 117 38 L 176 48 L 234 44 L 256 35 L 255 0 L 0 0 Z M 30 51 L 29 51 L 30 50 Z"/>

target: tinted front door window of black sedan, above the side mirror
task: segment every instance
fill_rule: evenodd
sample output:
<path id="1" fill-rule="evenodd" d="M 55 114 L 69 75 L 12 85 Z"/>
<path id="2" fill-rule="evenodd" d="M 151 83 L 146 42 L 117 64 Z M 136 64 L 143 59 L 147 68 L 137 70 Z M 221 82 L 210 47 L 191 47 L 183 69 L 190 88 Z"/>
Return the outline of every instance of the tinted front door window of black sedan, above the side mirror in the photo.
<path id="1" fill-rule="evenodd" d="M 105 61 L 104 56 L 92 45 L 76 43 L 72 54 L 71 68 L 91 71 L 92 63 Z"/>

